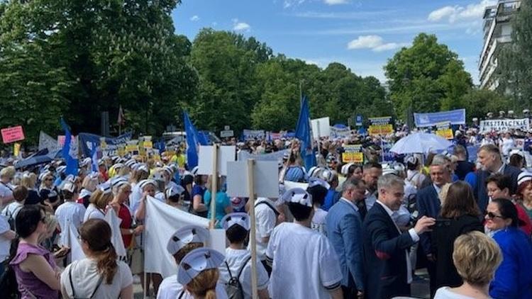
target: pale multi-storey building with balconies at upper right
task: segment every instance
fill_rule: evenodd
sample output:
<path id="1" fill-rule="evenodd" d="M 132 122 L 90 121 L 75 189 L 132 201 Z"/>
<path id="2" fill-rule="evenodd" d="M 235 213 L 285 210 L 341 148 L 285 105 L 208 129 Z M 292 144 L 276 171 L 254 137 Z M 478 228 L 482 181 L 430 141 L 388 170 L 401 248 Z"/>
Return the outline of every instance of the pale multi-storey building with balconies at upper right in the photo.
<path id="1" fill-rule="evenodd" d="M 480 88 L 497 89 L 498 56 L 501 46 L 511 43 L 511 18 L 521 6 L 520 0 L 499 0 L 484 11 L 484 46 L 478 63 Z"/>

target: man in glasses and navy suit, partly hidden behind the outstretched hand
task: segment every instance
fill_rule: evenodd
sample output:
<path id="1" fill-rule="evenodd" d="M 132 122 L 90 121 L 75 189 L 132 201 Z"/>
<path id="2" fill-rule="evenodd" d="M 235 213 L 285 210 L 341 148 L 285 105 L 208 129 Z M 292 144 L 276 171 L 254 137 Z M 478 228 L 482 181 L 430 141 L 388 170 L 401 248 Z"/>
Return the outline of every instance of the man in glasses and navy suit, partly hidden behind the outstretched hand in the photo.
<path id="1" fill-rule="evenodd" d="M 419 217 L 427 216 L 437 218 L 441 209 L 441 188 L 445 184 L 450 183 L 450 169 L 445 162 L 438 162 L 434 159 L 429 171 L 432 184 L 422 188 L 416 194 L 416 205 L 419 211 Z M 431 277 L 431 297 L 433 297 L 436 293 L 436 261 L 432 255 L 431 234 L 426 232 L 421 234 L 419 238 L 421 250 L 423 250 L 428 261 L 427 271 L 428 275 Z"/>

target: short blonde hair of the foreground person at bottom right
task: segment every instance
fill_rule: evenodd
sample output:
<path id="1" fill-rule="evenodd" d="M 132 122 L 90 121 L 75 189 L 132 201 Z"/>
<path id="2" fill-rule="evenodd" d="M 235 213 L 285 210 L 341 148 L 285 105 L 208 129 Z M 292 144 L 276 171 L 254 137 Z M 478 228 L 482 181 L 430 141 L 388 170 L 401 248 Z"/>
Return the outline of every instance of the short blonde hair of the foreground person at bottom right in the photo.
<path id="1" fill-rule="evenodd" d="M 482 232 L 456 238 L 453 262 L 462 279 L 473 286 L 486 286 L 502 261 L 499 245 Z"/>

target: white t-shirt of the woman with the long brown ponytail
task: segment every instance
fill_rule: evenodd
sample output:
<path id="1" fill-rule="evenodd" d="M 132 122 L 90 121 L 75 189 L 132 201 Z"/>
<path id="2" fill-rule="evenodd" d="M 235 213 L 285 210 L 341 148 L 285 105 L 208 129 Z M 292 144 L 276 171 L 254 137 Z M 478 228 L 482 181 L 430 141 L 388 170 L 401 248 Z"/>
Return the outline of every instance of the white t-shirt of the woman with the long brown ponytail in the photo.
<path id="1" fill-rule="evenodd" d="M 123 261 L 116 261 L 116 263 L 118 264 L 118 269 L 113 277 L 113 283 L 107 284 L 104 278 L 93 298 L 116 299 L 123 288 L 133 283 L 133 276 L 128 264 Z M 101 276 L 101 273 L 96 268 L 96 261 L 94 259 L 74 261 L 61 273 L 61 285 L 65 288 L 69 297 L 72 298 L 72 287 L 70 286 L 69 278 L 70 269 L 72 269 L 70 277 L 72 277 L 72 285 L 74 286 L 76 297 L 89 298 L 96 286 L 98 286 Z"/>

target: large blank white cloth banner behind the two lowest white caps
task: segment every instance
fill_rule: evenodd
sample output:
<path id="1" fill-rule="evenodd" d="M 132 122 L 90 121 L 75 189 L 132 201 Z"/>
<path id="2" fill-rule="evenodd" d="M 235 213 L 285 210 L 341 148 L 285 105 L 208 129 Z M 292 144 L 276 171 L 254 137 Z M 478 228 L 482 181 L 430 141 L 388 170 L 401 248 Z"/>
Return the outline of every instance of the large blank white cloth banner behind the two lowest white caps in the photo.
<path id="1" fill-rule="evenodd" d="M 209 220 L 148 197 L 144 227 L 145 272 L 160 273 L 163 278 L 177 273 L 174 257 L 168 253 L 166 246 L 174 232 L 184 225 L 209 227 Z"/>

